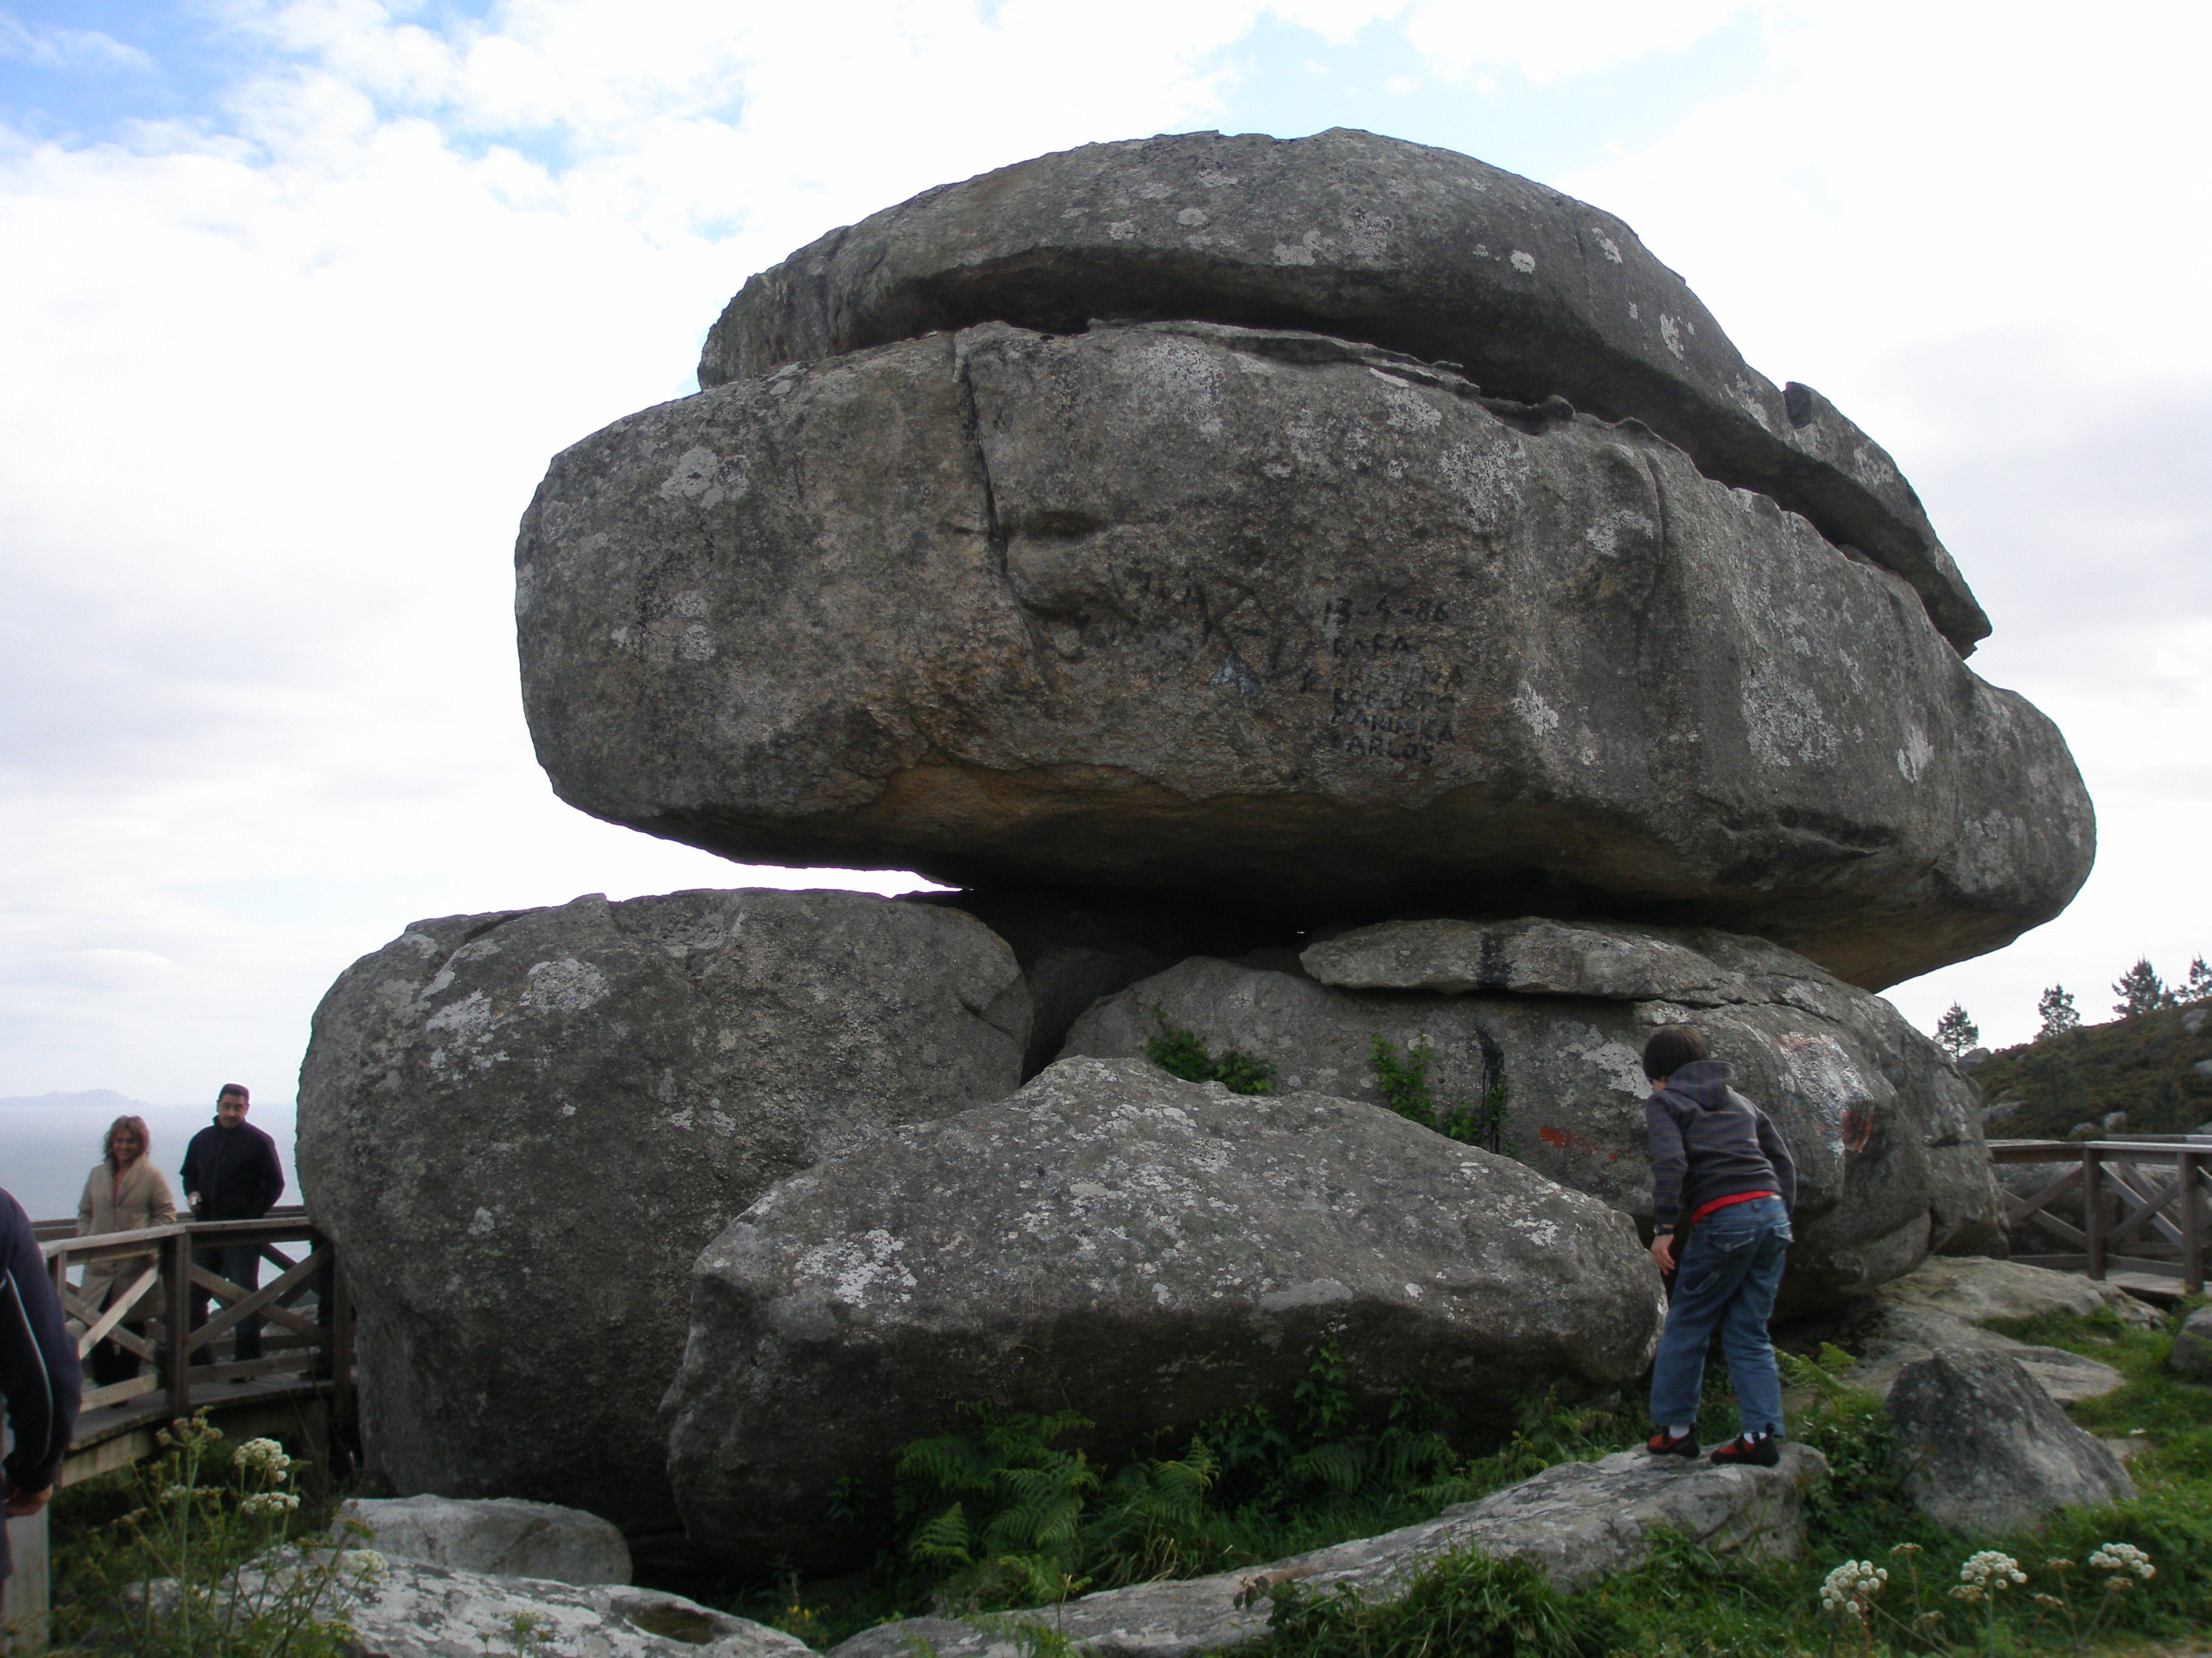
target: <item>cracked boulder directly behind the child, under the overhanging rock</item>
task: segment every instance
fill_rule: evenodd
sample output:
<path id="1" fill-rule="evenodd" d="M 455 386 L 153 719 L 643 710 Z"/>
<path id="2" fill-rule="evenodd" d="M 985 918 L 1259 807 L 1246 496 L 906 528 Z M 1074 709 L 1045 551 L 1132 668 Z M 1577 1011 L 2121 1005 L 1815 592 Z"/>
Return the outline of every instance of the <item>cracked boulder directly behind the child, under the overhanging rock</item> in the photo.
<path id="1" fill-rule="evenodd" d="M 1692 1021 L 1798 1163 L 1785 1313 L 1997 1236 L 1973 1085 L 1887 1001 L 1774 944 L 1431 920 L 1327 937 L 1301 966 L 1181 962 L 1091 1008 L 1064 1052 L 1141 1057 L 1177 1028 L 1272 1063 L 1281 1088 L 1380 1101 L 1376 1037 L 1400 1059 L 1427 1043 L 1436 1105 L 1480 1105 L 1502 1085 L 1513 1154 L 1648 1231 L 1644 1041 Z"/>

